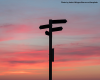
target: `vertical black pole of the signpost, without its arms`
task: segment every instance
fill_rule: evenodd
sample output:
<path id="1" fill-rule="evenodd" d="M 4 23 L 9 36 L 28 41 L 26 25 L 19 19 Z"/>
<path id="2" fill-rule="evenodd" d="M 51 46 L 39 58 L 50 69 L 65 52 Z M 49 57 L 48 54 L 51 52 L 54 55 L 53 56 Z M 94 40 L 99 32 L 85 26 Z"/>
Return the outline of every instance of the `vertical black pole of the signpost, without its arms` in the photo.
<path id="1" fill-rule="evenodd" d="M 52 20 L 49 19 L 49 80 L 52 80 Z"/>

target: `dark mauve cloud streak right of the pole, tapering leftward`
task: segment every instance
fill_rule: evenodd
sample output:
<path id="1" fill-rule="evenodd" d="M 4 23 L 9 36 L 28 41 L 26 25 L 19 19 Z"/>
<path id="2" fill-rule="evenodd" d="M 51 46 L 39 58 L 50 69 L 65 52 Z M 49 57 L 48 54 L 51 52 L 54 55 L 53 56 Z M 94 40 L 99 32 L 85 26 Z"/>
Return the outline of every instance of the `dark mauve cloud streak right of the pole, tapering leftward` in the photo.
<path id="1" fill-rule="evenodd" d="M 57 55 L 80 55 L 80 56 L 100 56 L 100 46 L 83 46 L 78 48 L 67 48 L 61 51 L 57 51 Z"/>

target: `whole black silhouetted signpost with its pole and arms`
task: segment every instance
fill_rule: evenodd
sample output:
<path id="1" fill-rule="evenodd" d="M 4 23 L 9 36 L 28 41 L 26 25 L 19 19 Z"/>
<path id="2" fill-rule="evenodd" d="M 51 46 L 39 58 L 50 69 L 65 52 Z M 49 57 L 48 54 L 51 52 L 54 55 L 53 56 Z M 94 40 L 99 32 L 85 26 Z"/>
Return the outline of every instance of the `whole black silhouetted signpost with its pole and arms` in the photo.
<path id="1" fill-rule="evenodd" d="M 49 32 L 46 31 L 45 34 L 49 36 L 49 80 L 52 80 L 52 62 L 54 62 L 54 48 L 52 48 L 52 32 L 61 31 L 62 27 L 52 28 L 52 24 L 66 23 L 66 19 L 52 20 L 49 19 L 49 24 L 41 25 L 40 29 L 49 28 Z"/>

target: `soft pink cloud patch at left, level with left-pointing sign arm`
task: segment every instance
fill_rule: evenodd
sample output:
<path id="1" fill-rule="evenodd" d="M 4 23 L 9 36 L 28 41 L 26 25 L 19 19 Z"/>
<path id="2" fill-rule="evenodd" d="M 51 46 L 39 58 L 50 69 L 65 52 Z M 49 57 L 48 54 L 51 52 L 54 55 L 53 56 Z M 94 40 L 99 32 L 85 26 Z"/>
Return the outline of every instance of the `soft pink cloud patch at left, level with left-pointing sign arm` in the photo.
<path id="1" fill-rule="evenodd" d="M 27 33 L 32 31 L 32 28 L 24 24 L 4 24 L 0 28 L 4 33 Z"/>

